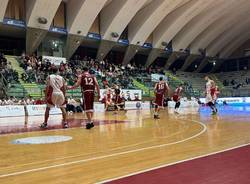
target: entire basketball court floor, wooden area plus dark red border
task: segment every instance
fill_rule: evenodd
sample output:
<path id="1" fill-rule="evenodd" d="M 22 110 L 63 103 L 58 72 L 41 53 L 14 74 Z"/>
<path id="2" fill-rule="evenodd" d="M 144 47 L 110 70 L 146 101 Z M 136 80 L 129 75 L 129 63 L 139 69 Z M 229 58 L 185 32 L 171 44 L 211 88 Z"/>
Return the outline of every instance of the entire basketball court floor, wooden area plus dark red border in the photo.
<path id="1" fill-rule="evenodd" d="M 192 170 L 181 169 L 182 164 L 197 162 L 199 167 L 192 167 L 197 174 L 188 183 L 249 183 L 246 170 L 233 177 L 241 167 L 249 168 L 249 111 L 248 106 L 221 106 L 211 116 L 207 107 L 182 109 L 179 115 L 166 109 L 159 120 L 150 110 L 96 113 L 91 130 L 82 127 L 84 114 L 70 115 L 69 129 L 61 129 L 58 115 L 51 116 L 47 130 L 38 128 L 41 116 L 1 118 L 0 183 L 183 183 L 181 174 Z M 239 167 L 227 164 L 230 150 L 243 151 L 230 161 L 237 165 L 244 158 Z M 216 157 L 225 158 L 224 164 L 216 164 Z M 210 180 L 218 165 L 226 175 Z M 177 169 L 164 171 L 172 167 Z"/>

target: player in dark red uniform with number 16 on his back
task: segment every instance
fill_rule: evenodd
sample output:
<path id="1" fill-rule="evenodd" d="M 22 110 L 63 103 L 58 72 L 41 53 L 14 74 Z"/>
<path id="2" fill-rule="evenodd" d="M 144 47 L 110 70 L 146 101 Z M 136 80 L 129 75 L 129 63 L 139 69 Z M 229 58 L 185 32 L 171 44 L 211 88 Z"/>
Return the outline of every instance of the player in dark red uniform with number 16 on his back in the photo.
<path id="1" fill-rule="evenodd" d="M 165 94 L 169 91 L 168 84 L 163 81 L 163 77 L 159 78 L 159 82 L 155 84 L 155 110 L 154 119 L 159 119 L 160 108 L 163 108 Z"/>

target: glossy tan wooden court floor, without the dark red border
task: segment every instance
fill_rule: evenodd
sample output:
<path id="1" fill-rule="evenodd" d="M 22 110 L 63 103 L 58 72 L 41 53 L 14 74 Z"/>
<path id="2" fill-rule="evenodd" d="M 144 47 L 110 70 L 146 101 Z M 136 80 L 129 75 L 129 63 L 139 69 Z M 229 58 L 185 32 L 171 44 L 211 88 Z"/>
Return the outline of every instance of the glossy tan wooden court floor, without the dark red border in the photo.
<path id="1" fill-rule="evenodd" d="M 1 184 L 96 183 L 250 143 L 249 108 L 221 107 L 218 116 L 204 108 L 181 115 L 171 110 L 152 119 L 149 110 L 98 113 L 92 130 L 34 131 L 0 135 Z M 83 114 L 69 119 L 84 119 Z M 0 124 L 42 123 L 42 117 L 0 119 Z M 51 123 L 60 124 L 60 116 Z M 15 145 L 17 138 L 67 135 L 67 142 Z"/>

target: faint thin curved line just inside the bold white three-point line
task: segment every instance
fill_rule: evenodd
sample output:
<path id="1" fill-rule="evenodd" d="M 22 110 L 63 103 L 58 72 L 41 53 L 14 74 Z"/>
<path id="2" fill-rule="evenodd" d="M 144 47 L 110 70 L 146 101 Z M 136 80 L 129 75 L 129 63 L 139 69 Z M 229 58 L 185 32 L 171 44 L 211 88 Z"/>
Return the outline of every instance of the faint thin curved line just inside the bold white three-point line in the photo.
<path id="1" fill-rule="evenodd" d="M 186 130 L 186 128 L 185 128 L 185 130 Z M 174 134 L 172 134 L 170 136 L 162 136 L 162 137 L 153 138 L 154 140 L 150 140 L 150 141 L 143 141 L 143 142 L 139 142 L 139 143 L 135 143 L 135 144 L 130 144 L 130 145 L 125 145 L 125 146 L 120 146 L 120 147 L 117 147 L 117 148 L 112 148 L 112 149 L 109 149 L 108 151 L 116 151 L 116 150 L 125 149 L 125 148 L 129 148 L 129 147 L 133 147 L 133 146 L 138 146 L 138 145 L 141 145 L 141 144 L 154 142 L 154 141 L 156 141 L 156 139 L 168 139 L 168 138 L 176 136 L 176 135 L 178 135 L 178 134 L 180 134 L 180 133 L 182 133 L 184 131 L 178 131 L 178 132 L 176 132 L 176 133 L 174 133 Z M 103 152 L 94 152 L 94 153 L 89 153 L 89 154 L 78 154 L 78 155 L 72 155 L 72 156 L 66 156 L 66 157 L 59 157 L 59 158 L 55 158 L 55 159 L 47 159 L 47 160 L 43 160 L 43 161 L 30 162 L 30 163 L 26 163 L 26 164 L 3 167 L 3 168 L 0 168 L 0 171 L 6 170 L 6 169 L 11 169 L 11 168 L 16 168 L 16 167 L 23 167 L 23 166 L 34 165 L 34 164 L 43 164 L 43 163 L 50 162 L 50 161 L 51 162 L 52 161 L 60 161 L 60 160 L 65 160 L 65 159 L 71 159 L 71 158 L 89 156 L 89 155 L 101 154 L 101 153 L 103 153 Z"/>

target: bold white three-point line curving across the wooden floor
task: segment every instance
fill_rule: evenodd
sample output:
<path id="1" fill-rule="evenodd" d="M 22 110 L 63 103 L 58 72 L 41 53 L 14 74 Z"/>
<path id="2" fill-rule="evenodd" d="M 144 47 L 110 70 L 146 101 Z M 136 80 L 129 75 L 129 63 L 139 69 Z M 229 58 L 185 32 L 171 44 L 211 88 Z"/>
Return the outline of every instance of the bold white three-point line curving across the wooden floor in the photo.
<path id="1" fill-rule="evenodd" d="M 124 151 L 124 152 L 119 152 L 119 153 L 113 153 L 113 154 L 108 154 L 108 155 L 103 155 L 103 156 L 98 156 L 98 157 L 93 157 L 93 158 L 88 158 L 88 159 L 82 159 L 82 160 L 66 162 L 66 163 L 62 163 L 62 164 L 56 164 L 56 165 L 51 165 L 51 166 L 46 166 L 46 167 L 40 167 L 40 168 L 35 168 L 35 169 L 28 169 L 28 170 L 8 173 L 8 174 L 2 174 L 2 175 L 0 175 L 0 178 L 5 178 L 5 177 L 9 177 L 9 176 L 16 176 L 16 175 L 21 175 L 21 174 L 26 174 L 26 173 L 36 172 L 36 171 L 43 171 L 43 170 L 58 168 L 58 167 L 62 167 L 62 166 L 69 166 L 69 165 L 73 165 L 73 164 L 85 163 L 85 162 L 89 162 L 89 161 L 93 161 L 93 160 L 100 160 L 100 159 L 105 159 L 105 158 L 109 158 L 109 157 L 125 155 L 125 154 L 129 154 L 129 153 L 135 153 L 135 152 L 140 152 L 140 151 L 145 151 L 145 150 L 161 148 L 161 147 L 165 147 L 165 146 L 171 146 L 171 145 L 175 145 L 175 144 L 179 144 L 179 143 L 189 141 L 191 139 L 194 139 L 194 138 L 200 136 L 204 132 L 206 132 L 207 127 L 202 122 L 195 121 L 195 120 L 187 120 L 187 121 L 192 121 L 192 122 L 198 123 L 203 127 L 203 129 L 199 133 L 197 133 L 197 134 L 195 134 L 195 135 L 193 135 L 191 137 L 188 137 L 188 138 L 180 140 L 180 141 L 172 142 L 172 143 L 160 144 L 160 145 L 144 147 L 144 148 Z"/>

